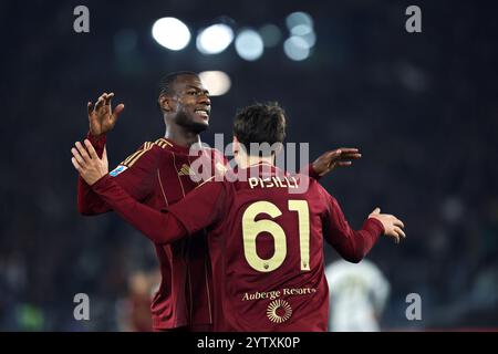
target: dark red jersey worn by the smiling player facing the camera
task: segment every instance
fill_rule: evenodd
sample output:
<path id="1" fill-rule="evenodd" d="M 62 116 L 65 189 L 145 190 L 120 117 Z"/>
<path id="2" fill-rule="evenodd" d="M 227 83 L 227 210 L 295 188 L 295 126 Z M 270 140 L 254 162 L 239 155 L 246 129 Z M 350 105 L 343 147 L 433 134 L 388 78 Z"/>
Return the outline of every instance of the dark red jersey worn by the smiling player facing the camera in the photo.
<path id="1" fill-rule="evenodd" d="M 95 139 L 87 135 L 98 156 L 102 156 L 105 136 Z M 216 164 L 224 157 L 207 149 Z M 190 178 L 188 148 L 159 138 L 145 143 L 110 173 L 112 179 L 136 200 L 160 210 L 183 199 L 198 186 Z M 90 186 L 79 177 L 77 205 L 81 214 L 97 215 L 112 210 Z M 170 244 L 155 244 L 162 283 L 152 300 L 153 326 L 156 330 L 212 323 L 212 291 L 205 230 L 196 237 Z"/>

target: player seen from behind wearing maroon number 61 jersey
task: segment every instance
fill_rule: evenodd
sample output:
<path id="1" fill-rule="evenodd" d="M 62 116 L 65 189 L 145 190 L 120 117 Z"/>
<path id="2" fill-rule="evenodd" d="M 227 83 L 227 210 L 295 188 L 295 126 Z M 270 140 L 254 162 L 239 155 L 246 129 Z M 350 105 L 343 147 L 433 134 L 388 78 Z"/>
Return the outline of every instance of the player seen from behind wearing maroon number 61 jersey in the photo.
<path id="1" fill-rule="evenodd" d="M 305 192 L 290 192 L 309 177 L 287 176 L 273 165 L 274 150 L 246 149 L 251 143 L 282 143 L 284 135 L 286 115 L 277 104 L 241 110 L 234 125 L 238 168 L 227 174 L 250 177 L 212 178 L 163 212 L 127 195 L 91 144 L 90 155 L 83 147 L 73 152 L 73 165 L 105 202 L 156 243 L 208 230 L 216 331 L 326 331 L 323 240 L 359 262 L 381 235 L 396 242 L 404 238 L 404 226 L 376 208 L 353 230 L 314 179 L 305 181 Z"/>

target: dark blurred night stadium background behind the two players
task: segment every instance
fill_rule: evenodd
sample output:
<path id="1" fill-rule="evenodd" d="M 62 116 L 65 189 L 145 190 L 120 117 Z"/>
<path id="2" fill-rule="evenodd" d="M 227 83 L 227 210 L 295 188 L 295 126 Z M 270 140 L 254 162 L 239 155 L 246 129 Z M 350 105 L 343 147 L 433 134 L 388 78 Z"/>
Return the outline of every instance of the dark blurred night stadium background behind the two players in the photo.
<path id="1" fill-rule="evenodd" d="M 73 31 L 74 7 L 90 33 Z M 422 9 L 422 33 L 405 9 Z M 232 86 L 212 97 L 209 132 L 231 137 L 237 107 L 278 101 L 288 142 L 311 158 L 340 146 L 363 158 L 322 184 L 359 228 L 380 206 L 404 220 L 406 242 L 382 239 L 369 259 L 391 282 L 384 330 L 498 327 L 498 29 L 496 6 L 471 1 L 2 1 L 0 330 L 117 331 L 131 273 L 156 267 L 153 247 L 113 214 L 76 210 L 70 149 L 87 132 L 86 102 L 106 91 L 126 108 L 108 134 L 111 167 L 164 135 L 156 84 L 168 72 L 222 70 Z M 282 51 L 286 17 L 314 20 L 312 55 Z M 231 44 L 217 55 L 172 52 L 155 20 L 193 32 L 225 15 L 235 30 L 274 23 L 281 43 L 256 62 Z M 124 45 L 123 43 L 132 43 Z M 332 258 L 338 258 L 331 252 Z M 330 254 L 328 254 L 330 256 Z M 92 320 L 73 319 L 73 296 Z M 405 319 L 405 296 L 423 320 Z"/>

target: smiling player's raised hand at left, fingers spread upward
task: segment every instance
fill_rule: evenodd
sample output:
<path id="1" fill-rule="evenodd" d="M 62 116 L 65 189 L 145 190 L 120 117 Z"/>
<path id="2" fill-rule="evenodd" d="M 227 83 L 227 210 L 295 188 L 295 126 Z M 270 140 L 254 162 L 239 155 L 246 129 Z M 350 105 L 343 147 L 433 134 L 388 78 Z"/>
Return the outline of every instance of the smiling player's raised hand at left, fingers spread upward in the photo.
<path id="1" fill-rule="evenodd" d="M 116 124 L 117 117 L 124 110 L 124 104 L 121 103 L 116 106 L 116 108 L 112 110 L 111 100 L 114 97 L 114 93 L 103 93 L 96 104 L 93 106 L 92 102 L 89 102 L 89 123 L 90 123 L 90 133 L 98 137 L 114 128 Z"/>

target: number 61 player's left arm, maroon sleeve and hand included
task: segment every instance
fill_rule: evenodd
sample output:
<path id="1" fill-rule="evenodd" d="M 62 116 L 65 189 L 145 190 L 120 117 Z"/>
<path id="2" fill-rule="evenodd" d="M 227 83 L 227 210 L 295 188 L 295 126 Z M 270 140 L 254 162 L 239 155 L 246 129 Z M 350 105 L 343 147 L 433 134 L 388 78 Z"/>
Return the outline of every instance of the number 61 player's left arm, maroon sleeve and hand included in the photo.
<path id="1" fill-rule="evenodd" d="M 107 174 L 105 149 L 101 159 L 90 142 L 85 140 L 85 146 L 87 152 L 83 146 L 73 152 L 74 168 L 115 212 L 155 243 L 170 243 L 222 216 L 226 196 L 222 184 L 206 183 L 176 205 L 158 211 L 133 199 Z"/>

